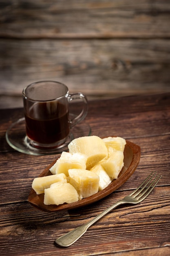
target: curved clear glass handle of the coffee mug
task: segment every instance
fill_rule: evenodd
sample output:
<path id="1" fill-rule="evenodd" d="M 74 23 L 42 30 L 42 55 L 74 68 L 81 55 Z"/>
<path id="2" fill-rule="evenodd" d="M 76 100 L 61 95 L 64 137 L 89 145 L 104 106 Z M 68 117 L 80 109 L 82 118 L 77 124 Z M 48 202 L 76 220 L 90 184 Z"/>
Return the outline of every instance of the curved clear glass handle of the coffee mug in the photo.
<path id="1" fill-rule="evenodd" d="M 72 128 L 73 126 L 75 126 L 76 124 L 78 124 L 80 121 L 82 121 L 88 112 L 88 104 L 87 104 L 87 98 L 84 94 L 82 94 L 82 92 L 78 92 L 78 93 L 69 93 L 68 95 L 68 102 L 72 102 L 75 100 L 80 99 L 83 102 L 83 108 L 82 111 L 79 113 L 79 115 L 77 115 L 75 118 L 73 118 L 72 120 L 70 120 L 70 127 Z"/>

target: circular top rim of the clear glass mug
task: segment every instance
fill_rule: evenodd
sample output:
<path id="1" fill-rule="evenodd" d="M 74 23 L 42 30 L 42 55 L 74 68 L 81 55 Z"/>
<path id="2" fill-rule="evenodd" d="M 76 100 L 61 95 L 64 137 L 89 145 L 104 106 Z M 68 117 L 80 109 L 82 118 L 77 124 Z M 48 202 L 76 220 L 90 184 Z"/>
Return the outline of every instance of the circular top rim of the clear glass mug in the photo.
<path id="1" fill-rule="evenodd" d="M 46 99 L 46 100 L 32 99 L 31 97 L 28 97 L 26 95 L 26 89 L 30 88 L 32 85 L 36 85 L 36 84 L 40 84 L 40 83 L 56 83 L 56 84 L 62 85 L 66 89 L 66 93 L 61 95 L 60 97 L 53 98 L 53 99 Z M 68 87 L 64 83 L 61 83 L 61 82 L 58 82 L 58 81 L 53 81 L 53 80 L 42 80 L 42 81 L 33 82 L 33 83 L 30 83 L 29 85 L 26 85 L 24 87 L 24 89 L 22 90 L 22 96 L 24 97 L 24 99 L 28 99 L 30 101 L 36 101 L 36 102 L 37 101 L 38 102 L 46 102 L 46 101 L 60 100 L 62 98 L 65 98 L 66 96 L 68 96 L 68 94 L 69 94 Z"/>

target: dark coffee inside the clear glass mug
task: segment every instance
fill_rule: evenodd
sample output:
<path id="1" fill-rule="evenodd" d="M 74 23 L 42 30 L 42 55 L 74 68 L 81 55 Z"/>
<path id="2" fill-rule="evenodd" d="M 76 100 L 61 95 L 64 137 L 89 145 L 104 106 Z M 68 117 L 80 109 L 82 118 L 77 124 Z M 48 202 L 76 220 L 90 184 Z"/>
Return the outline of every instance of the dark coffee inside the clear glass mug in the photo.
<path id="1" fill-rule="evenodd" d="M 68 110 L 62 103 L 34 103 L 25 119 L 27 136 L 40 144 L 54 144 L 69 134 Z"/>

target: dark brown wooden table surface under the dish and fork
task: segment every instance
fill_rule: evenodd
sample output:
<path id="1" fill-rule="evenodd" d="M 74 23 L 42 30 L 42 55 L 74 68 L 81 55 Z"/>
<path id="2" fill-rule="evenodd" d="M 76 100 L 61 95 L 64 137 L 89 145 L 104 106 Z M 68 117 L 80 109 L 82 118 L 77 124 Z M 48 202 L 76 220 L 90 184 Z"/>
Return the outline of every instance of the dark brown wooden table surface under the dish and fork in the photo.
<path id="1" fill-rule="evenodd" d="M 136 171 L 94 204 L 57 213 L 35 209 L 27 201 L 31 183 L 59 155 L 13 150 L 5 132 L 23 110 L 0 110 L 0 255 L 170 255 L 170 94 L 96 100 L 88 105 L 86 123 L 92 135 L 120 136 L 141 147 Z M 55 238 L 128 195 L 151 171 L 162 178 L 143 202 L 114 209 L 70 247 L 55 244 Z"/>

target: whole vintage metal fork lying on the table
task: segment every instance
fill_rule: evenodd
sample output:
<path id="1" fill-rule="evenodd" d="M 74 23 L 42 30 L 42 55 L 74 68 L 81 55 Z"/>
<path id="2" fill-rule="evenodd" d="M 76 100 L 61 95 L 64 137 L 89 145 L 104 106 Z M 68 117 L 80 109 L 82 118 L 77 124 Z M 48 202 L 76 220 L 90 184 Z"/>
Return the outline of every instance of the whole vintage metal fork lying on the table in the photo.
<path id="1" fill-rule="evenodd" d="M 142 182 L 142 184 L 135 189 L 130 195 L 127 195 L 122 200 L 116 202 L 115 204 L 112 204 L 110 207 L 108 207 L 105 211 L 97 215 L 95 218 L 93 218 L 88 223 L 77 227 L 73 229 L 72 231 L 68 232 L 64 236 L 60 236 L 55 240 L 55 243 L 58 245 L 68 247 L 75 243 L 86 231 L 91 225 L 93 225 L 97 220 L 101 219 L 103 216 L 105 216 L 108 212 L 113 210 L 115 207 L 117 207 L 120 204 L 138 204 L 141 201 L 143 201 L 150 192 L 155 188 L 159 180 L 161 179 L 162 175 L 157 175 L 155 177 L 156 173 L 152 172 L 150 175 Z"/>

